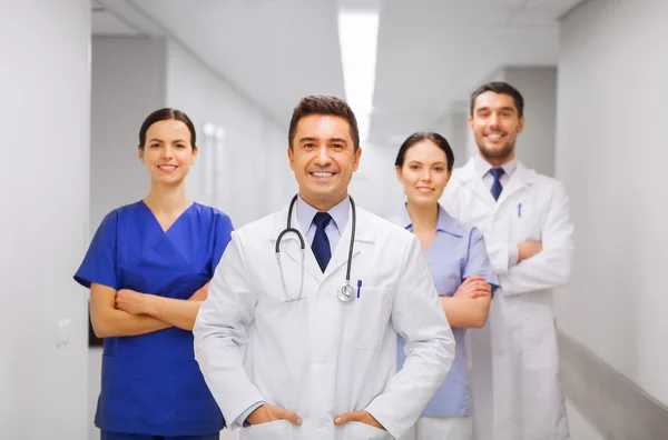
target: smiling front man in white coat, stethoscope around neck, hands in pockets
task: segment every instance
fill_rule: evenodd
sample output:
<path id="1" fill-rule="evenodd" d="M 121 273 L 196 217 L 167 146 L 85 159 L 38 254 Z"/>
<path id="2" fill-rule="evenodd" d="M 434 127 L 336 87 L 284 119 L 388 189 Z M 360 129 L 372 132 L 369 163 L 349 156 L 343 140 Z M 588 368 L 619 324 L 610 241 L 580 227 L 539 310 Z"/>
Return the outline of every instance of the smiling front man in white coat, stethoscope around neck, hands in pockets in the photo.
<path id="1" fill-rule="evenodd" d="M 420 243 L 348 197 L 362 150 L 345 101 L 302 99 L 288 144 L 299 192 L 233 232 L 195 357 L 242 440 L 399 438 L 454 356 Z"/>

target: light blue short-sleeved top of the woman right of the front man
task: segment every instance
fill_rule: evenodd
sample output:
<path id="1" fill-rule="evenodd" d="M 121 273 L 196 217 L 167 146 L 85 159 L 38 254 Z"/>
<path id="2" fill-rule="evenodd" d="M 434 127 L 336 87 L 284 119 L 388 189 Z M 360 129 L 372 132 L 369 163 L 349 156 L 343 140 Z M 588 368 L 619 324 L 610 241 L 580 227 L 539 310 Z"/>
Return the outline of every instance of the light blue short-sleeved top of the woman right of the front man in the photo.
<path id="1" fill-rule="evenodd" d="M 413 222 L 404 207 L 397 219 L 400 226 L 413 230 Z M 450 217 L 439 206 L 436 238 L 423 251 L 429 271 L 441 297 L 452 297 L 462 282 L 471 276 L 484 277 L 492 286 L 492 293 L 499 287 L 497 272 L 492 267 L 484 246 L 482 233 L 474 227 Z M 422 413 L 426 417 L 461 417 L 471 414 L 471 390 L 466 373 L 466 352 L 464 334 L 466 329 L 453 328 L 455 351 L 454 362 L 441 388 Z M 405 340 L 399 338 L 397 369 L 406 359 Z"/>

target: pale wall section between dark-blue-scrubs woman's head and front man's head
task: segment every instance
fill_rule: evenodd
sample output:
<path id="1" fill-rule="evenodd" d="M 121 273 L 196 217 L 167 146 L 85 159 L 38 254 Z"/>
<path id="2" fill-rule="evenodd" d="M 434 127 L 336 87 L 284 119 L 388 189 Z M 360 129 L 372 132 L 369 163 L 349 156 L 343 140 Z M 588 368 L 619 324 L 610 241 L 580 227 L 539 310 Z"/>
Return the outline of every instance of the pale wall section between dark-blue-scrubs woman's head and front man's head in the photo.
<path id="1" fill-rule="evenodd" d="M 288 203 L 296 191 L 286 156 L 289 114 L 285 121 L 266 114 L 176 42 L 168 46 L 167 73 L 167 103 L 185 110 L 198 130 L 207 121 L 226 133 L 202 149 L 188 192 L 228 213 L 235 227 Z M 205 171 L 209 161 L 215 190 Z"/>

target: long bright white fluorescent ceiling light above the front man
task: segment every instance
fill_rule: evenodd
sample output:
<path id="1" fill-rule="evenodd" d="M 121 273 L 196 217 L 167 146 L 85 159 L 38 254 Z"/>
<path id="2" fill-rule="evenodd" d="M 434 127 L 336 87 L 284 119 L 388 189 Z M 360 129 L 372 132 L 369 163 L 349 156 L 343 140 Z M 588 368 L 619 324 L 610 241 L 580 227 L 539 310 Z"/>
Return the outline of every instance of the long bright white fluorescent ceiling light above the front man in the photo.
<path id="1" fill-rule="evenodd" d="M 371 123 L 377 40 L 377 10 L 344 9 L 338 12 L 345 99 L 357 117 L 361 141 L 369 137 Z"/>

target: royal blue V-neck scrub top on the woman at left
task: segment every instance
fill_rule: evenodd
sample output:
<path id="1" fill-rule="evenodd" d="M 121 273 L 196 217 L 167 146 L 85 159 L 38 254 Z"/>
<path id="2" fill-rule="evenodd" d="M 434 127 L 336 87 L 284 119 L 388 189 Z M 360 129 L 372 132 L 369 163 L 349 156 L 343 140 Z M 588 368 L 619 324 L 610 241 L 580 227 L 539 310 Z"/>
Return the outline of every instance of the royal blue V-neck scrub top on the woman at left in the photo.
<path id="1" fill-rule="evenodd" d="M 193 203 L 165 232 L 146 203 L 128 204 L 107 214 L 75 280 L 185 300 L 212 279 L 232 230 L 226 214 Z M 202 436 L 223 429 L 189 331 L 105 339 L 101 386 L 95 423 L 102 430 Z"/>

